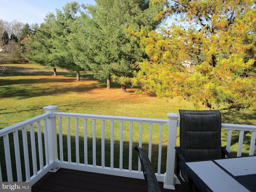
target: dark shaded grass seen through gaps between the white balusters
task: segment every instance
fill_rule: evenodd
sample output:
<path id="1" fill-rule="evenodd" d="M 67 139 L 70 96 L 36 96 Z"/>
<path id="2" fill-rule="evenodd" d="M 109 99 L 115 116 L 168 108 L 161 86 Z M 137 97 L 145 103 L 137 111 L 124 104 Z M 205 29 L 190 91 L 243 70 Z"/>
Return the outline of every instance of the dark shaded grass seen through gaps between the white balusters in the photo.
<path id="1" fill-rule="evenodd" d="M 40 170 L 40 162 L 39 162 L 39 145 L 38 145 L 38 137 L 37 132 L 35 132 L 35 148 L 36 148 L 36 164 L 37 171 Z M 23 148 L 23 140 L 22 140 L 22 132 L 18 131 L 19 137 L 19 147 L 20 147 L 20 165 L 22 171 L 22 181 L 26 180 L 25 174 L 25 161 L 24 161 L 24 148 Z M 60 148 L 59 148 L 59 135 L 57 135 L 58 142 L 58 158 L 60 159 Z M 63 153 L 64 153 L 64 161 L 68 161 L 68 145 L 67 145 L 67 135 L 62 136 L 63 139 Z M 29 154 L 29 165 L 30 165 L 30 176 L 33 175 L 33 162 L 32 162 L 32 147 L 31 147 L 31 138 L 30 131 L 27 131 L 27 140 L 28 140 L 28 154 Z M 13 134 L 9 134 L 9 143 L 10 143 L 10 155 L 11 155 L 11 165 L 12 165 L 12 178 L 13 181 L 17 181 L 17 172 L 16 172 L 16 160 L 15 160 L 15 152 L 14 152 L 14 138 Z M 70 137 L 71 141 L 71 162 L 76 162 L 76 139 L 75 136 Z M 105 139 L 105 167 L 110 167 L 110 140 Z M 0 144 L 3 146 L 3 137 L 0 138 Z M 133 142 L 132 146 L 138 145 L 137 142 Z M 87 147 L 88 147 L 88 164 L 93 163 L 93 154 L 92 154 L 92 138 L 87 138 Z M 114 141 L 114 168 L 119 168 L 119 147 L 120 141 Z M 146 153 L 148 153 L 148 143 L 143 144 L 143 149 Z M 44 149 L 44 133 L 42 133 L 42 148 Z M 166 152 L 167 146 L 162 146 L 162 164 L 161 164 L 161 173 L 166 171 Z M 96 138 L 96 165 L 102 166 L 101 161 L 101 138 Z M 43 150 L 43 164 L 46 165 L 45 160 L 45 151 Z M 79 137 L 79 161 L 81 164 L 84 164 L 84 137 Z M 132 150 L 132 170 L 138 170 L 138 152 Z M 2 181 L 6 182 L 7 179 L 7 170 L 6 170 L 6 158 L 4 147 L 0 148 L 0 162 L 1 162 L 1 171 L 2 171 Z M 158 145 L 152 144 L 152 166 L 154 171 L 157 172 L 157 164 L 158 164 Z M 129 142 L 123 142 L 123 166 L 122 169 L 128 169 L 129 165 Z"/>

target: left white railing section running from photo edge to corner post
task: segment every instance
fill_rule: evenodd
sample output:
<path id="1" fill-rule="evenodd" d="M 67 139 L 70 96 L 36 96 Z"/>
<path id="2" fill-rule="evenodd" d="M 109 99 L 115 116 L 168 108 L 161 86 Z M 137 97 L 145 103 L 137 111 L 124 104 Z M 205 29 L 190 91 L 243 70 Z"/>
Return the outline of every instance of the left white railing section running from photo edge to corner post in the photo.
<path id="1" fill-rule="evenodd" d="M 34 184 L 50 169 L 46 118 L 42 114 L 0 130 L 0 181 Z"/>

